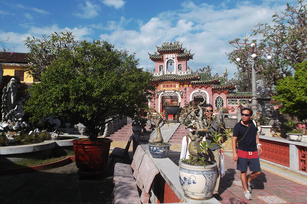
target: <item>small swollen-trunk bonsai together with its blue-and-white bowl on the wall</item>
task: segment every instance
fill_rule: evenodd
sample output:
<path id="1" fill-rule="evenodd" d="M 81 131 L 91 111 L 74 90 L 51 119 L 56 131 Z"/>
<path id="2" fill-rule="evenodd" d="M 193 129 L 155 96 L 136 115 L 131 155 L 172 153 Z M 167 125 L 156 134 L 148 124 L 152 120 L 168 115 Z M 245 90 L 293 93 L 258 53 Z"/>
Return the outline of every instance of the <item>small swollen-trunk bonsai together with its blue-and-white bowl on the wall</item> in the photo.
<path id="1" fill-rule="evenodd" d="M 170 144 L 168 141 L 163 141 L 161 134 L 161 127 L 165 123 L 169 124 L 170 121 L 163 117 L 163 113 L 158 113 L 157 111 L 151 111 L 147 116 L 150 120 L 152 129 L 157 127 L 157 137 L 153 138 L 153 142 L 148 144 L 149 152 L 154 158 L 164 158 L 167 153 L 169 153 Z"/>

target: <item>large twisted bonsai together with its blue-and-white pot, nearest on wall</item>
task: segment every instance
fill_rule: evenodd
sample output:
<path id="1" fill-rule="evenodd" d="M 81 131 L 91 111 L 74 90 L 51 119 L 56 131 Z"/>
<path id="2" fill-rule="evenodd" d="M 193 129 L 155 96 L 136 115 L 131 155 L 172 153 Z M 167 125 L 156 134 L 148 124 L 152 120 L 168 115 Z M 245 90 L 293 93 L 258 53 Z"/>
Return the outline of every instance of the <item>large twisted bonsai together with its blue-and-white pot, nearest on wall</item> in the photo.
<path id="1" fill-rule="evenodd" d="M 197 200 L 212 197 L 217 179 L 217 164 L 206 160 L 203 154 L 208 153 L 207 148 L 212 147 L 215 143 L 223 148 L 218 143 L 223 136 L 221 133 L 212 132 L 213 141 L 211 144 L 207 144 L 207 141 L 202 142 L 205 134 L 211 133 L 209 129 L 213 123 L 223 130 L 223 134 L 227 135 L 227 139 L 231 134 L 230 129 L 224 129 L 222 122 L 216 121 L 214 117 L 210 119 L 206 117 L 205 103 L 205 98 L 198 105 L 190 101 L 184 107 L 181 115 L 181 124 L 185 125 L 186 129 L 191 128 L 194 131 L 188 132 L 188 137 L 191 139 L 188 144 L 190 157 L 179 161 L 179 179 L 185 196 Z"/>

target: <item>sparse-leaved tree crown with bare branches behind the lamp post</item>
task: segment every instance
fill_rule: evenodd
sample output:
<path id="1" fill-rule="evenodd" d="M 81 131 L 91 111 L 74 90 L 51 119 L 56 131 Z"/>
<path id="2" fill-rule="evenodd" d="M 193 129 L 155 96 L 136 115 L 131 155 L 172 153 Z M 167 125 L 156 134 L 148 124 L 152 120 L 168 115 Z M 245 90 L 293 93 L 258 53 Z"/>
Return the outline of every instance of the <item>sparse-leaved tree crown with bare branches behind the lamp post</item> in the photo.
<path id="1" fill-rule="evenodd" d="M 307 11 L 304 0 L 298 0 L 298 5 L 287 4 L 284 11 L 275 12 L 272 16 L 273 24 L 258 23 L 252 30 L 253 35 L 260 40 L 249 40 L 246 36 L 242 44 L 240 39 L 230 40 L 229 43 L 235 47 L 231 53 L 226 53 L 230 63 L 235 63 L 242 70 L 251 69 L 251 60 L 241 56 L 241 61 L 236 62 L 238 49 L 248 49 L 249 43 L 256 43 L 256 47 L 263 50 L 271 47 L 271 60 L 257 59 L 257 77 L 265 81 L 267 87 L 277 85 L 278 79 L 293 75 L 293 67 L 296 63 L 307 59 Z M 267 56 L 266 51 L 263 55 Z M 241 80 L 247 80 L 241 76 Z"/>

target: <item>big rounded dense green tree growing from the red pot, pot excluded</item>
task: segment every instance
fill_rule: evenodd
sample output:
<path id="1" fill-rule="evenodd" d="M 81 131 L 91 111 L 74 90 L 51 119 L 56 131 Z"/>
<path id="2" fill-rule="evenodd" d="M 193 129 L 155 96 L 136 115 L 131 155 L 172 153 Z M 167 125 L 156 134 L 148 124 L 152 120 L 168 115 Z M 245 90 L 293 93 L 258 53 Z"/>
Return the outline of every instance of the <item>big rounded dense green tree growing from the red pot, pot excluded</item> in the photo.
<path id="1" fill-rule="evenodd" d="M 134 55 L 120 53 L 106 41 L 82 41 L 74 51 L 62 50 L 33 84 L 25 111 L 30 121 L 45 116 L 83 123 L 95 140 L 100 128 L 122 116 L 137 113 L 155 88 L 152 75 L 137 68 Z"/>

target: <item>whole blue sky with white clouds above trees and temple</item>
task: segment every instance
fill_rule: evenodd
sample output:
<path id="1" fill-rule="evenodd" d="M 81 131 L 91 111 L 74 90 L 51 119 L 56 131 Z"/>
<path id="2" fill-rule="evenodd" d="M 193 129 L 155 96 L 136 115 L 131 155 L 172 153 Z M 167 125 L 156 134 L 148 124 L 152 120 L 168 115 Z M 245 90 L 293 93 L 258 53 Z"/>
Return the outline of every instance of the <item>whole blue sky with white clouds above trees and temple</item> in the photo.
<path id="1" fill-rule="evenodd" d="M 233 50 L 227 40 L 243 41 L 257 23 L 272 25 L 273 13 L 286 3 L 297 5 L 292 0 L 0 0 L 0 50 L 28 52 L 28 36 L 70 31 L 77 40 L 100 39 L 115 49 L 131 49 L 139 67 L 153 71 L 148 52 L 179 41 L 194 54 L 188 61 L 194 71 L 209 65 L 212 76 L 227 69 L 230 79 L 237 69 L 225 54 Z"/>

